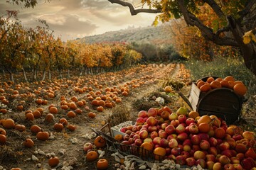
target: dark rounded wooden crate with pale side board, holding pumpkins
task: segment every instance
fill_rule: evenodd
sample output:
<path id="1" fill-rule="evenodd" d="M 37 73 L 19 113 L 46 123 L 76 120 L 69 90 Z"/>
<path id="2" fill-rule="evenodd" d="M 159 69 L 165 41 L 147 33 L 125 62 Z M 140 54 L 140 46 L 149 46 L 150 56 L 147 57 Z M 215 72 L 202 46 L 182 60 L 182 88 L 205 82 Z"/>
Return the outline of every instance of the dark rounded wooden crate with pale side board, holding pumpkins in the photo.
<path id="1" fill-rule="evenodd" d="M 232 89 L 218 88 L 202 92 L 195 83 L 192 84 L 188 98 L 193 111 L 200 115 L 217 115 L 228 124 L 233 124 L 240 118 L 243 96 L 238 96 Z"/>

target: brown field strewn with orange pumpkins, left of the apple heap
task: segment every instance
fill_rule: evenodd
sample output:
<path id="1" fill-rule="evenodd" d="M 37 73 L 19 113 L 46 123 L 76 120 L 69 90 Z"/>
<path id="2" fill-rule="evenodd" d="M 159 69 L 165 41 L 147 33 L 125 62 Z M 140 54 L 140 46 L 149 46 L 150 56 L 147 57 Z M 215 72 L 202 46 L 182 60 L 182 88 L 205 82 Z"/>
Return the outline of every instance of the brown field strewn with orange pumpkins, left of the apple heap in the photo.
<path id="1" fill-rule="evenodd" d="M 2 76 L 1 124 L 3 120 L 12 119 L 16 126 L 4 128 L 6 143 L 0 146 L 0 165 L 6 169 L 50 169 L 47 155 L 54 153 L 60 163 L 68 162 L 73 169 L 87 169 L 82 148 L 85 142 L 93 140 L 90 128 L 99 129 L 107 122 L 112 125 L 122 123 L 122 120 L 111 120 L 117 108 L 127 108 L 129 113 L 124 120 L 133 120 L 133 114 L 137 115 L 138 110 L 132 108 L 132 103 L 150 91 L 162 89 L 159 82 L 164 77 L 188 82 L 189 72 L 183 64 L 149 64 L 120 72 L 50 82 L 12 84 Z M 63 124 L 63 129 L 54 126 L 63 119 L 68 122 L 68 125 Z M 33 125 L 48 132 L 49 139 L 38 140 L 36 132 L 31 132 Z M 33 147 L 23 146 L 28 138 L 33 140 Z M 33 155 L 37 159 L 32 158 Z"/>

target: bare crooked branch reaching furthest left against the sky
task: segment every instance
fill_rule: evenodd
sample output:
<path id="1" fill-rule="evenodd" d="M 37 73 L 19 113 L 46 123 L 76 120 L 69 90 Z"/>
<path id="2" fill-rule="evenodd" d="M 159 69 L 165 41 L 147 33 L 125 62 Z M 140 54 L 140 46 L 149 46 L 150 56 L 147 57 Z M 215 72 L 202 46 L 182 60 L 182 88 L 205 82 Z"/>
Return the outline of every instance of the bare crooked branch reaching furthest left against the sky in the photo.
<path id="1" fill-rule="evenodd" d="M 108 0 L 108 1 L 110 1 L 112 4 L 115 3 L 115 4 L 122 5 L 122 6 L 128 6 L 132 16 L 137 15 L 137 13 L 161 13 L 161 9 L 151 9 L 151 8 L 135 9 L 132 4 L 130 4 L 129 2 L 122 1 L 122 0 Z"/>

